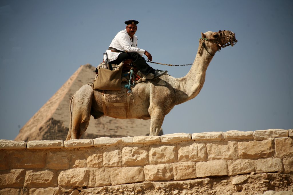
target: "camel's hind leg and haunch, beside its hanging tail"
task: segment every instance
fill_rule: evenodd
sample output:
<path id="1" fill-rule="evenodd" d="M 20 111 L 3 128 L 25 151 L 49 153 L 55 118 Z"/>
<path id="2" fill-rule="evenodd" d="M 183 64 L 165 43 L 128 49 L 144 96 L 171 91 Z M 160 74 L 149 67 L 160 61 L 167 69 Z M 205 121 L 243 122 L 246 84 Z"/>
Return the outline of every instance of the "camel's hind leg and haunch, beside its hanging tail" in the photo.
<path id="1" fill-rule="evenodd" d="M 70 124 L 66 140 L 79 139 L 86 131 L 91 117 L 93 89 L 89 85 L 82 86 L 70 101 Z"/>

